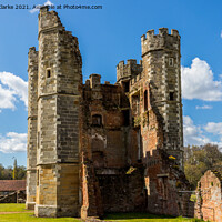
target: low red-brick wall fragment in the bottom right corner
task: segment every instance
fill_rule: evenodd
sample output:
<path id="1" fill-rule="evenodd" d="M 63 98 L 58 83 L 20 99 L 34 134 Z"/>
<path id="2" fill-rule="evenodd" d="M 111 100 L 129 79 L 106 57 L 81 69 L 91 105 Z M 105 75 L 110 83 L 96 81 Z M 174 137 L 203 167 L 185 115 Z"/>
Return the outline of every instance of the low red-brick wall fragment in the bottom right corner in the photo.
<path id="1" fill-rule="evenodd" d="M 206 171 L 198 183 L 195 216 L 222 221 L 222 176 L 218 171 Z"/>

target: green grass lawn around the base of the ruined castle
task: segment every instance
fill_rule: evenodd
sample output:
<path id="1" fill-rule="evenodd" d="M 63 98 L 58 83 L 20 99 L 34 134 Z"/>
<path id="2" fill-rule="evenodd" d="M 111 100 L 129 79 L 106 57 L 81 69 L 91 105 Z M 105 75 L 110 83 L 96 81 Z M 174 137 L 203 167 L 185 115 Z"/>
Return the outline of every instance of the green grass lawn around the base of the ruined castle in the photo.
<path id="1" fill-rule="evenodd" d="M 10 213 L 13 212 L 13 213 Z M 18 213 L 16 213 L 18 212 Z M 4 214 L 2 214 L 4 213 Z M 113 222 L 201 222 L 196 219 L 171 218 L 153 215 L 148 213 L 114 213 L 107 214 L 104 221 Z M 24 209 L 24 204 L 0 204 L 0 222 L 81 222 L 80 219 L 60 218 L 60 219 L 46 219 L 34 218 L 33 211 Z"/>

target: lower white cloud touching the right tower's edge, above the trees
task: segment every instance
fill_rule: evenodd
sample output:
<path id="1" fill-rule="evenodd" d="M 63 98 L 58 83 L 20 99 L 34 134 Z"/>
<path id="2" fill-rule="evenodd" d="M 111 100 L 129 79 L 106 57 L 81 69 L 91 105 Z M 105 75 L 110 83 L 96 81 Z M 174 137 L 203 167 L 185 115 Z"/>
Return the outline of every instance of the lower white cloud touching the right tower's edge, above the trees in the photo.
<path id="1" fill-rule="evenodd" d="M 183 117 L 184 145 L 203 145 L 210 143 L 210 139 L 202 134 L 200 127 L 194 125 L 190 117 Z"/>

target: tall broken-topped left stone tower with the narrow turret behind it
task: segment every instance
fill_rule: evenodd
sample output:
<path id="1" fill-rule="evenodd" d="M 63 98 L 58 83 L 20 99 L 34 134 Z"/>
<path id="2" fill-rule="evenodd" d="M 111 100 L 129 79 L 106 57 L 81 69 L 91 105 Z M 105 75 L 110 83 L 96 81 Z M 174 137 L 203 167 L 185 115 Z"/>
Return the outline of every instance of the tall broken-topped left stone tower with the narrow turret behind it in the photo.
<path id="1" fill-rule="evenodd" d="M 39 53 L 33 48 L 29 52 L 27 200 L 34 202 L 36 192 L 37 216 L 73 216 L 79 212 L 81 67 L 78 39 L 64 30 L 57 12 L 42 7 Z"/>

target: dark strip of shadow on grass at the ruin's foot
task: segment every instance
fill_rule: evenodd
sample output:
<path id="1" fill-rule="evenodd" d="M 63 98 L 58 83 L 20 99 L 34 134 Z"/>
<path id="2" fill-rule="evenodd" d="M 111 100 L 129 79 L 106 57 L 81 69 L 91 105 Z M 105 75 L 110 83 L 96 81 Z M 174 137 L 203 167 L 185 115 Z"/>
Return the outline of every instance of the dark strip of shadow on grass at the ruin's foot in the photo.
<path id="1" fill-rule="evenodd" d="M 171 215 L 154 215 L 150 213 L 107 213 L 103 220 L 128 220 L 128 219 L 174 219 Z"/>

